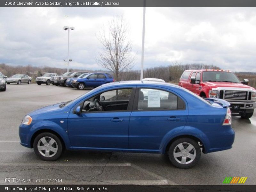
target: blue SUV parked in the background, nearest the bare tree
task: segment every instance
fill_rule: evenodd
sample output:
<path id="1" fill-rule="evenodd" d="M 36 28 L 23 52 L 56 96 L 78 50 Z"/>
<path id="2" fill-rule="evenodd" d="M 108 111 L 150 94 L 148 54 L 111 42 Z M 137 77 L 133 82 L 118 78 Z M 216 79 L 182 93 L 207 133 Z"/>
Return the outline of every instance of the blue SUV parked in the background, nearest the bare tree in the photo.
<path id="1" fill-rule="evenodd" d="M 108 73 L 90 73 L 84 78 L 72 80 L 71 86 L 83 90 L 85 87 L 98 87 L 114 81 L 115 79 Z"/>

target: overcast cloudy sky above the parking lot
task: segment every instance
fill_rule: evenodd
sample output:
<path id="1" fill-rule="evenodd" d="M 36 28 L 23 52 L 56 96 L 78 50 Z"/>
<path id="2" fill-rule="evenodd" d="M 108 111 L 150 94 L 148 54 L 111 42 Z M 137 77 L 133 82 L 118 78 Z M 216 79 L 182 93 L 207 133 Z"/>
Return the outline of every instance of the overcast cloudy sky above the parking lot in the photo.
<path id="1" fill-rule="evenodd" d="M 140 69 L 143 8 L 0 8 L 0 63 L 65 68 L 70 32 L 71 68 L 101 69 L 95 58 L 103 25 L 116 15 Z M 65 17 L 64 17 L 65 16 Z M 256 8 L 146 8 L 145 68 L 173 62 L 214 64 L 256 72 Z"/>

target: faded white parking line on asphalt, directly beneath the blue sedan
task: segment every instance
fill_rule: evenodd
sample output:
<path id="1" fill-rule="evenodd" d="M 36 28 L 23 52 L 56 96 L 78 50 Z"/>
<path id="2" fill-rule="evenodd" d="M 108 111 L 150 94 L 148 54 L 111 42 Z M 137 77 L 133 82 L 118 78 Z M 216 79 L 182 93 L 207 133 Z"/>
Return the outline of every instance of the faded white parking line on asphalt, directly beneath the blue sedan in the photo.
<path id="1" fill-rule="evenodd" d="M 36 166 L 36 167 L 44 167 L 44 166 L 58 166 L 58 167 L 94 167 L 94 166 L 131 166 L 130 163 L 0 163 L 0 166 Z"/>

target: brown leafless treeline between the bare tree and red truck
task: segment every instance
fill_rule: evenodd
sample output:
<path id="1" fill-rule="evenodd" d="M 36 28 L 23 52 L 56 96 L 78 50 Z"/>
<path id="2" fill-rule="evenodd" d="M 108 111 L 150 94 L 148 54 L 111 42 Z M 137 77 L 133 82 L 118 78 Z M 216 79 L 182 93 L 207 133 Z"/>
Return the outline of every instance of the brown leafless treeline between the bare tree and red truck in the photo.
<path id="1" fill-rule="evenodd" d="M 166 82 L 178 83 L 181 74 L 188 69 L 220 69 L 215 65 L 174 63 L 167 67 L 147 68 L 143 72 L 143 78 L 160 78 Z M 124 72 L 120 80 L 140 80 L 140 71 L 132 70 Z"/>

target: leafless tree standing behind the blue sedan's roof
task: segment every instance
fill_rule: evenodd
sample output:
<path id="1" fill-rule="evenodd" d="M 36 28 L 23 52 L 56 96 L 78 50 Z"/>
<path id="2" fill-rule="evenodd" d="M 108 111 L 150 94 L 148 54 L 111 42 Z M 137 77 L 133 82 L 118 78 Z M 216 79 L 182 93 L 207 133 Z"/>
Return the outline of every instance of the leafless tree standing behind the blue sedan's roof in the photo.
<path id="1" fill-rule="evenodd" d="M 132 54 L 132 43 L 127 40 L 127 23 L 123 17 L 115 17 L 108 26 L 108 34 L 103 27 L 99 40 L 102 52 L 96 58 L 98 64 L 110 70 L 116 81 L 124 71 L 133 67 L 135 55 Z"/>

